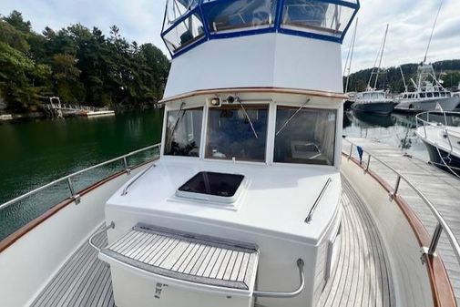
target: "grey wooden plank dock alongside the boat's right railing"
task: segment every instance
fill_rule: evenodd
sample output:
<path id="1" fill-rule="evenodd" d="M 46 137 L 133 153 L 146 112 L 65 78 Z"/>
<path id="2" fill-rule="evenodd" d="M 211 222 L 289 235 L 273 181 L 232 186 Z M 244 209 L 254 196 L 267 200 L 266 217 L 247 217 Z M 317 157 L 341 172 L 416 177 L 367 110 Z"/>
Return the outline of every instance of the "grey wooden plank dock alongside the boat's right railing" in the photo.
<path id="1" fill-rule="evenodd" d="M 382 160 L 414 184 L 424 196 L 430 200 L 434 207 L 445 219 L 450 229 L 454 232 L 456 240 L 460 239 L 460 179 L 441 169 L 437 169 L 428 161 L 412 157 L 399 148 L 394 148 L 376 140 L 367 138 L 345 138 L 342 143 L 342 152 L 348 155 L 353 144 L 363 148 L 363 167 L 369 168 L 374 174 L 386 181 L 390 186 L 396 184 L 397 175 L 388 169 L 377 159 Z M 371 159 L 367 165 L 371 153 L 377 159 Z M 357 149 L 352 149 L 353 158 L 359 160 Z M 411 189 L 403 180 L 398 189 L 398 194 L 410 205 L 419 220 L 424 224 L 425 229 L 433 235 L 436 220 L 433 213 L 425 205 L 414 189 Z M 460 302 L 460 267 L 455 258 L 455 253 L 445 234 L 441 235 L 436 253 L 440 254 L 449 274 L 452 287 L 455 292 L 457 304 Z"/>

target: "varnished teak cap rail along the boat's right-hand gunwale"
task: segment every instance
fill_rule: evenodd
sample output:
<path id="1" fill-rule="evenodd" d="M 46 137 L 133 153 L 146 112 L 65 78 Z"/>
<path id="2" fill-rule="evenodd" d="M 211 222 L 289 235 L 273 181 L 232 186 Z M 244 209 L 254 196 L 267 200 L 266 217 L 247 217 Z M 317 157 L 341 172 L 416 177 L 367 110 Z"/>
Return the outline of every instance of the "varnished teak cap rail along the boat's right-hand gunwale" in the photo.
<path id="1" fill-rule="evenodd" d="M 342 156 L 348 159 L 346 154 L 342 153 Z M 365 169 L 357 159 L 354 159 L 353 157 L 350 159 L 361 169 Z M 375 179 L 388 193 L 393 191 L 391 186 L 372 170 L 367 169 L 366 173 Z M 418 219 L 414 210 L 411 209 L 409 204 L 400 195 L 394 196 L 394 202 L 398 205 L 400 210 L 403 211 L 406 220 L 411 225 L 420 248 L 429 246 L 431 241 L 430 235 L 424 228 L 422 221 Z M 447 271 L 445 270 L 444 262 L 440 257 L 426 256 L 426 261 L 424 263 L 426 265 L 428 278 L 431 284 L 434 307 L 455 307 L 455 294 L 452 290 L 452 285 L 447 275 Z"/>

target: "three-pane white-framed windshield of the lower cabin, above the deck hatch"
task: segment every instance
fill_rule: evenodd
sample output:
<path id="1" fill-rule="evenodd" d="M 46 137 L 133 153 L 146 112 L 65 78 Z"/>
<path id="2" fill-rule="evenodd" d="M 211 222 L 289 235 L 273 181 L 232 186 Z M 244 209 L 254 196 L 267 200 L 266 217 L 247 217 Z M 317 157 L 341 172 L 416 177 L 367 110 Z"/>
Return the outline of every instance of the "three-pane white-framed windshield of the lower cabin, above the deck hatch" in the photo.
<path id="1" fill-rule="evenodd" d="M 162 136 L 164 140 L 162 144 L 164 145 L 161 148 L 161 157 L 167 159 L 200 159 L 223 163 L 336 167 L 339 163 L 336 146 L 340 119 L 336 106 L 311 105 L 310 99 L 307 99 L 306 103 L 274 102 L 270 99 L 257 100 L 257 102 L 244 102 L 243 100 L 241 103 L 222 103 L 220 107 L 213 107 L 208 103 L 200 104 L 199 100 L 196 100 L 191 105 L 183 107 L 183 110 L 202 109 L 203 112 L 201 127 L 199 128 L 201 131 L 200 143 L 197 144 L 199 145 L 199 153 L 193 156 L 168 153 L 167 138 L 173 138 L 168 136 L 166 132 L 169 113 L 172 112 L 171 114 L 177 115 L 180 106 L 182 106 L 179 101 L 172 102 L 165 109 Z M 279 118 L 281 110 L 288 109 L 291 111 Z M 260 113 L 261 111 L 262 113 Z M 300 113 L 305 114 L 301 116 Z M 295 125 L 299 124 L 298 118 L 300 116 L 301 118 L 307 116 L 310 118 L 309 122 L 312 122 L 312 118 L 316 118 L 314 125 L 307 127 L 307 133 L 302 134 L 302 129 L 302 131 L 297 131 L 291 127 L 291 122 L 297 122 Z M 225 118 L 228 120 L 222 122 L 221 120 Z M 291 119 L 287 120 L 288 118 Z M 326 132 L 318 134 L 319 132 L 315 129 L 317 125 L 322 125 L 318 131 L 327 130 L 329 134 L 325 136 Z M 281 126 L 284 127 L 281 128 Z M 235 133 L 237 133 L 237 137 L 235 137 Z M 241 138 L 238 137 L 240 135 Z M 291 143 L 281 142 L 281 144 L 280 138 L 289 138 Z M 234 145 L 230 145 L 230 143 Z M 326 147 L 324 144 L 329 145 Z M 212 150 L 211 145 L 217 149 Z M 294 147 L 296 148 L 295 152 L 293 151 Z M 312 154 L 312 147 L 315 147 L 317 153 L 321 154 L 316 155 L 318 157 L 314 157 L 314 159 L 305 156 Z M 280 148 L 283 156 L 282 159 L 277 159 L 277 157 L 281 157 L 279 154 L 277 156 Z"/>

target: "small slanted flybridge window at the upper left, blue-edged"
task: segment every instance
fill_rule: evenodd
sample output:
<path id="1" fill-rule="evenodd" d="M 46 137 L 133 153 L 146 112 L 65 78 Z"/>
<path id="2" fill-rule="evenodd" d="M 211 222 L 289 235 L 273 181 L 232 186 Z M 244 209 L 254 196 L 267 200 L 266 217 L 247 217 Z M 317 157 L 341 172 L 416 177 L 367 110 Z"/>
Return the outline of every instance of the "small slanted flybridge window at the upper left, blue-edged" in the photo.
<path id="1" fill-rule="evenodd" d="M 166 22 L 166 21 L 165 21 Z M 198 13 L 189 15 L 169 30 L 164 32 L 164 40 L 169 51 L 177 50 L 189 46 L 204 36 L 203 23 Z"/>

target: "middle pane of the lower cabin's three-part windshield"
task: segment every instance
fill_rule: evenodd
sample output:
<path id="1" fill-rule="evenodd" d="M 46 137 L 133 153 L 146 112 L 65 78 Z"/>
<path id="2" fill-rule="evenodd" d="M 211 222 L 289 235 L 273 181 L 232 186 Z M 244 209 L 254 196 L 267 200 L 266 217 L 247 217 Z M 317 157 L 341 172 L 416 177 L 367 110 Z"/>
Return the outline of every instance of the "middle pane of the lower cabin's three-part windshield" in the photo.
<path id="1" fill-rule="evenodd" d="M 205 157 L 265 161 L 268 105 L 211 107 Z"/>

